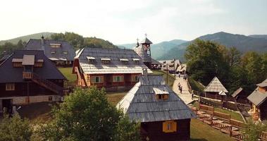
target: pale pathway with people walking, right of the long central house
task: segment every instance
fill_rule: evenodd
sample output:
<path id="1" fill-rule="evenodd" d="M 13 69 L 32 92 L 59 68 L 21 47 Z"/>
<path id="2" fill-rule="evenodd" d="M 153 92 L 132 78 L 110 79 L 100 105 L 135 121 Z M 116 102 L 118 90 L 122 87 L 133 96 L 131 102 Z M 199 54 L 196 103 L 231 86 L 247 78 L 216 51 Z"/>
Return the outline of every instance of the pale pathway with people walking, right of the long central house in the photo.
<path id="1" fill-rule="evenodd" d="M 182 78 L 182 75 L 180 76 L 180 78 L 177 75 L 175 77 L 175 81 L 173 82 L 173 91 L 176 94 L 178 94 L 178 96 L 182 99 L 182 101 L 185 102 L 185 104 L 190 104 L 191 102 L 193 102 L 193 100 L 192 100 L 192 94 L 190 94 L 190 92 L 188 91 L 187 80 L 184 80 Z M 180 85 L 182 85 L 182 94 L 180 93 L 180 90 L 178 90 L 179 82 L 180 82 Z"/>

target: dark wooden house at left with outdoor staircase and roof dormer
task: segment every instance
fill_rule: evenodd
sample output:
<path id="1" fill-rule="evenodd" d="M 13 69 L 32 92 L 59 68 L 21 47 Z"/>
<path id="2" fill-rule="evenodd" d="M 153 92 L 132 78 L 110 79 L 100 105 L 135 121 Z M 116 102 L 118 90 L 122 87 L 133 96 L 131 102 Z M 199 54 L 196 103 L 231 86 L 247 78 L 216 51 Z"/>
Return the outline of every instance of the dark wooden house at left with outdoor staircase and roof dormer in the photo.
<path id="1" fill-rule="evenodd" d="M 66 78 L 44 51 L 16 50 L 0 64 L 0 112 L 13 105 L 60 101 Z"/>

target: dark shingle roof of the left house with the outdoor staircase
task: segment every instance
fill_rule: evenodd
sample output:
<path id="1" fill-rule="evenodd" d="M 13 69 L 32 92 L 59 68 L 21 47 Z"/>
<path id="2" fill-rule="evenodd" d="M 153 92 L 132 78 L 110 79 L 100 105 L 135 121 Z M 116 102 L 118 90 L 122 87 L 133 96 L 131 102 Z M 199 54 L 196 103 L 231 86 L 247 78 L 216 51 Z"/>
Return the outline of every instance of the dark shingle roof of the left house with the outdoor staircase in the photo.
<path id="1" fill-rule="evenodd" d="M 16 50 L 11 56 L 4 61 L 0 66 L 0 82 L 24 82 L 23 68 L 14 68 L 12 64 L 13 59 L 23 59 L 24 55 L 35 55 L 35 61 L 43 59 L 42 68 L 34 68 L 33 72 L 44 79 L 66 79 L 60 71 L 56 68 L 55 64 L 51 62 L 46 56 L 44 51 L 32 50 Z"/>

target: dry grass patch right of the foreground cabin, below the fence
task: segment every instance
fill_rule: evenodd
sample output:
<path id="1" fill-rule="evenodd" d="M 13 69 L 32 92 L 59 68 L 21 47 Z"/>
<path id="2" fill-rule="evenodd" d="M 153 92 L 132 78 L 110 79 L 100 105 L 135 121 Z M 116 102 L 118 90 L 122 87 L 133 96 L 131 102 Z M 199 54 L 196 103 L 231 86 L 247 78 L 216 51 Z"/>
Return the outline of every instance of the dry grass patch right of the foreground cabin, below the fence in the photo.
<path id="1" fill-rule="evenodd" d="M 194 141 L 233 141 L 233 139 L 229 135 L 221 133 L 219 130 L 216 130 L 214 128 L 211 128 L 211 126 L 199 121 L 198 119 L 191 120 L 190 136 L 191 140 Z"/>

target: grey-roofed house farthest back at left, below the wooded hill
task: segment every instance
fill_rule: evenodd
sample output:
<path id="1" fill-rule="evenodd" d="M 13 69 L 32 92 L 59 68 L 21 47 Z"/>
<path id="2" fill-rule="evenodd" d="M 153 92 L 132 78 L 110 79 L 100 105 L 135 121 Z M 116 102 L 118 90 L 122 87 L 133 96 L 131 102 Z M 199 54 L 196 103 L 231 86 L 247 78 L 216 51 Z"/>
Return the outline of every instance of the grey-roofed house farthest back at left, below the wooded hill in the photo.
<path id="1" fill-rule="evenodd" d="M 56 66 L 70 67 L 73 66 L 75 51 L 66 41 L 54 41 L 50 39 L 30 39 L 25 49 L 43 50 L 46 57 L 53 61 Z"/>

